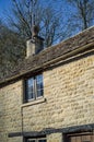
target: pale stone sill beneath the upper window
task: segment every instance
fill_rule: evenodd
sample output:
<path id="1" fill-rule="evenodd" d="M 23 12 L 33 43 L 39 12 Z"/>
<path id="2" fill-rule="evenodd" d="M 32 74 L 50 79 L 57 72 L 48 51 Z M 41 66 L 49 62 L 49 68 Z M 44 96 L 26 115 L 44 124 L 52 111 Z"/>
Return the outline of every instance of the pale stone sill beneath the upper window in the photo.
<path id="1" fill-rule="evenodd" d="M 37 104 L 45 103 L 45 102 L 46 102 L 46 98 L 40 97 L 35 100 L 27 102 L 27 103 L 23 104 L 21 107 L 33 106 L 33 105 L 37 105 Z"/>

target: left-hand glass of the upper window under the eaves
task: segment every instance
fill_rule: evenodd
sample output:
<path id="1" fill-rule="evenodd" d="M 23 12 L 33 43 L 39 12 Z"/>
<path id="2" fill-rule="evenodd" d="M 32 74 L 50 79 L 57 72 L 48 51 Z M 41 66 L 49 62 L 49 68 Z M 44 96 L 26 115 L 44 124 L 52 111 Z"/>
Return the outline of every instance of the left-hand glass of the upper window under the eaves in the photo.
<path id="1" fill-rule="evenodd" d="M 34 98 L 34 78 L 31 78 L 26 82 L 27 86 L 27 99 L 33 99 Z"/>

